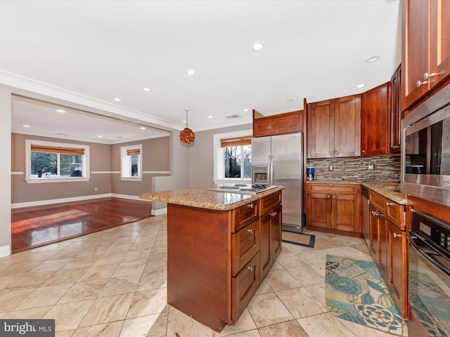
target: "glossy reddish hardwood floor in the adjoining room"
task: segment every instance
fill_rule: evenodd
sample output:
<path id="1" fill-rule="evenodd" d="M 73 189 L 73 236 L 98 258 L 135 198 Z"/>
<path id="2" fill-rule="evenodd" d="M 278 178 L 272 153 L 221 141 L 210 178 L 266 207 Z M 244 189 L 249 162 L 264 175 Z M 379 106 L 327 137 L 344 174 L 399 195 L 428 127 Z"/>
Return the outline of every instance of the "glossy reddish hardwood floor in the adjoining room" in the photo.
<path id="1" fill-rule="evenodd" d="M 13 253 L 151 216 L 148 201 L 103 198 L 11 210 Z"/>

